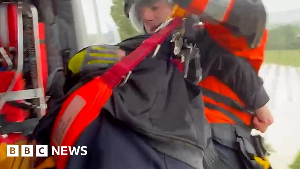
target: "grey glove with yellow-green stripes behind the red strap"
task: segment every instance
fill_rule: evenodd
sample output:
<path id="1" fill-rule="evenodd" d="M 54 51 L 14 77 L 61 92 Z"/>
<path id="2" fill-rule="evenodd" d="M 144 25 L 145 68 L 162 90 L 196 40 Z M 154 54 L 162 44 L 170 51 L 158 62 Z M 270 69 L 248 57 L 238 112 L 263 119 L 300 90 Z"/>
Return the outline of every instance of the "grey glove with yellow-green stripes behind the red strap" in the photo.
<path id="1" fill-rule="evenodd" d="M 94 45 L 77 53 L 68 63 L 68 68 L 77 74 L 83 70 L 107 69 L 125 57 L 125 52 L 118 46 Z"/>

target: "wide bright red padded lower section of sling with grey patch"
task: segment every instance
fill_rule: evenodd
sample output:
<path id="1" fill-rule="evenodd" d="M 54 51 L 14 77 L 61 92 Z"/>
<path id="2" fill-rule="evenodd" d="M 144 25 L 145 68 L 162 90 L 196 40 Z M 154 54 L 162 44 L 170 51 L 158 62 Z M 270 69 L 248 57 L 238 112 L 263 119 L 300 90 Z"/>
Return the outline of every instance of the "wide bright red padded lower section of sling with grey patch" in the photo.
<path id="1" fill-rule="evenodd" d="M 62 104 L 55 120 L 50 144 L 55 149 L 58 146 L 71 146 L 72 149 L 80 134 L 98 117 L 112 92 L 101 78 L 96 77 L 71 94 Z M 57 157 L 57 169 L 64 169 L 67 165 L 70 153 L 64 153 L 67 155 L 60 154 Z"/>

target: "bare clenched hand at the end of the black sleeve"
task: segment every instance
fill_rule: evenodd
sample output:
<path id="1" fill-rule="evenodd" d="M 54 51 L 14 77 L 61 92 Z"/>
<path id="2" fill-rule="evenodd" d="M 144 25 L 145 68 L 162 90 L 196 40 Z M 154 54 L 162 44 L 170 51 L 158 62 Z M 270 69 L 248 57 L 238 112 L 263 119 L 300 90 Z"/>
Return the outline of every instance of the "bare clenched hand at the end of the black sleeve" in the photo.
<path id="1" fill-rule="evenodd" d="M 268 126 L 273 124 L 273 122 L 274 120 L 271 115 L 271 112 L 266 105 L 255 110 L 255 116 L 253 118 L 253 124 L 255 129 L 264 133 L 267 130 Z"/>

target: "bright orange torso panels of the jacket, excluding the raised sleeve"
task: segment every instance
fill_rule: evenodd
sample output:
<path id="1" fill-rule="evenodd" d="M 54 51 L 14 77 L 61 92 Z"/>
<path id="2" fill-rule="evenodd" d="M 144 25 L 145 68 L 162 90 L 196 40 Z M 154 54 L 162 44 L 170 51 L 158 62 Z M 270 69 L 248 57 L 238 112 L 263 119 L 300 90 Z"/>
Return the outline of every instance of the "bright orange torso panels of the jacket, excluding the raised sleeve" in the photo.
<path id="1" fill-rule="evenodd" d="M 236 57 L 246 58 L 258 73 L 264 61 L 267 30 L 259 46 L 248 48 L 245 37 L 236 37 L 224 26 L 206 23 L 205 28 L 221 47 Z M 205 116 L 209 123 L 251 125 L 252 113 L 245 109 L 245 104 L 226 84 L 213 76 L 208 76 L 199 83 L 199 86 L 202 87 Z"/>

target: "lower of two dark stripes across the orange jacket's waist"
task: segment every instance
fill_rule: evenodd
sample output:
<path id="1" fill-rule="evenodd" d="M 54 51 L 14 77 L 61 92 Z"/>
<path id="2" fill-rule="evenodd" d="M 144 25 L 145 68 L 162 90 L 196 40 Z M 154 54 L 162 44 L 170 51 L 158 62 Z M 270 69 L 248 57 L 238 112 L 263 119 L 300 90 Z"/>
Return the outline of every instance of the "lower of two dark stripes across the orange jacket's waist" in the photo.
<path id="1" fill-rule="evenodd" d="M 222 112 L 224 115 L 229 117 L 231 120 L 235 122 L 236 125 L 241 126 L 245 129 L 251 129 L 250 126 L 248 126 L 244 121 L 242 121 L 240 118 L 238 118 L 235 114 L 232 112 L 229 112 L 228 110 L 223 109 L 222 107 L 219 107 L 217 105 L 211 104 L 211 103 L 204 103 L 205 107 L 212 110 L 217 110 L 219 112 Z"/>

